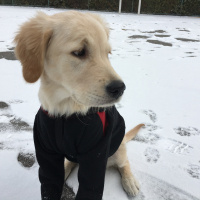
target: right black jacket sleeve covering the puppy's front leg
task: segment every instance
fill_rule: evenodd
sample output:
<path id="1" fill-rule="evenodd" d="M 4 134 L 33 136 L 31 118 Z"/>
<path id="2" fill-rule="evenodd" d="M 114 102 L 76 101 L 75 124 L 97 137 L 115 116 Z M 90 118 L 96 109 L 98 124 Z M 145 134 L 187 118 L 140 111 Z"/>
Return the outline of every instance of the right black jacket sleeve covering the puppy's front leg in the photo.
<path id="1" fill-rule="evenodd" d="M 78 149 L 79 189 L 76 200 L 102 199 L 110 139 L 109 134 L 103 135 L 100 119 L 86 126 Z"/>

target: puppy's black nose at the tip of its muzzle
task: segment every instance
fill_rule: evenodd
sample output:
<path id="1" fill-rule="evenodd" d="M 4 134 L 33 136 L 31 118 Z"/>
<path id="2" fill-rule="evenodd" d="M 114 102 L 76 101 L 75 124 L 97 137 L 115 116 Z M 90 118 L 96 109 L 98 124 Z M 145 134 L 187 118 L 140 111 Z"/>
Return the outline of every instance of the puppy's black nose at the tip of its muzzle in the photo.
<path id="1" fill-rule="evenodd" d="M 126 86 L 122 81 L 112 81 L 106 87 L 107 93 L 115 99 L 118 99 L 120 96 L 122 96 L 125 89 Z"/>

